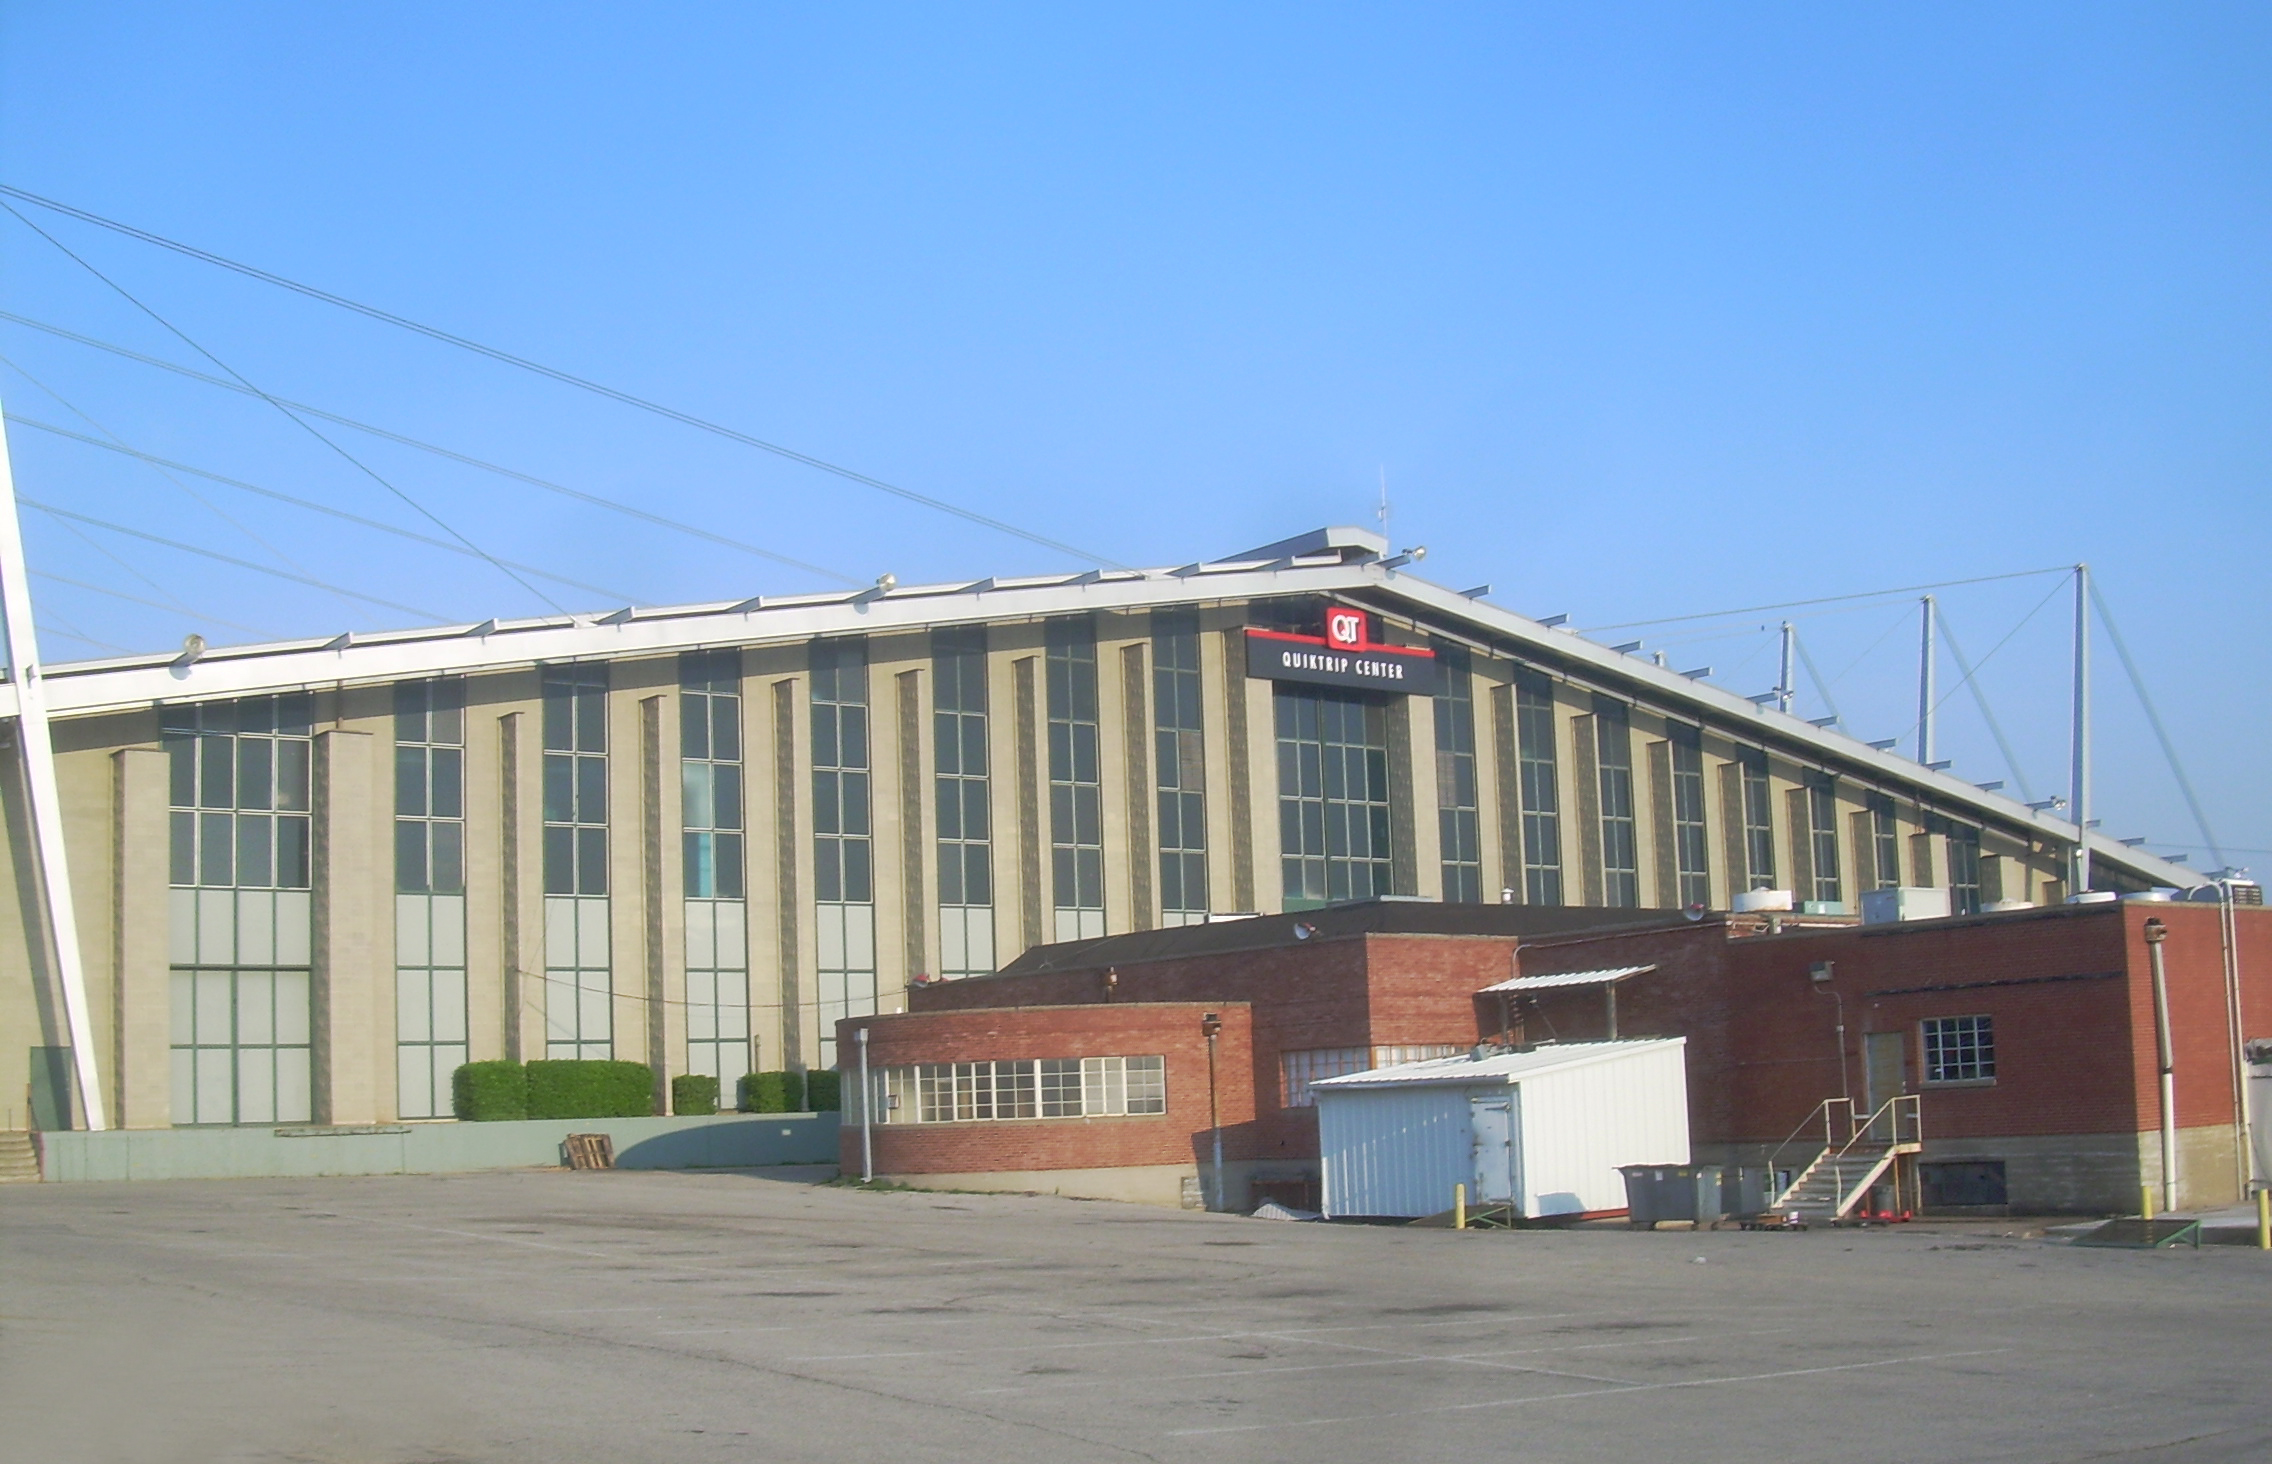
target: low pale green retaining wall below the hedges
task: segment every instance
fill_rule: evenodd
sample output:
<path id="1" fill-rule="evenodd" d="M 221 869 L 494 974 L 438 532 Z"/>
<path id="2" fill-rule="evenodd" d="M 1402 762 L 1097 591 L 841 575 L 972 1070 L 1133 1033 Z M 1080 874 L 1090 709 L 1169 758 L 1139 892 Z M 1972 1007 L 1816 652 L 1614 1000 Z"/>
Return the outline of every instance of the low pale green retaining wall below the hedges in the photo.
<path id="1" fill-rule="evenodd" d="M 41 1173 L 75 1180 L 438 1175 L 563 1164 L 568 1134 L 609 1134 L 618 1168 L 834 1164 L 836 1114 L 532 1118 L 361 1128 L 154 1128 L 41 1134 Z"/>

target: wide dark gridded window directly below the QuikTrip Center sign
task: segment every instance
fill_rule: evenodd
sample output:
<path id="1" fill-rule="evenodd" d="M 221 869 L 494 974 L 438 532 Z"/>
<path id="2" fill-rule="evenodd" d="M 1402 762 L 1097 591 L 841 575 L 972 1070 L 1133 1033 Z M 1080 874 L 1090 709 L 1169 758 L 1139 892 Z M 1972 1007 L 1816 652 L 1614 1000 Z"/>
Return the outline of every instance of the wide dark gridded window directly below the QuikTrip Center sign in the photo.
<path id="1" fill-rule="evenodd" d="M 1286 909 L 1386 896 L 1388 709 L 1286 682 L 1272 700 Z"/>

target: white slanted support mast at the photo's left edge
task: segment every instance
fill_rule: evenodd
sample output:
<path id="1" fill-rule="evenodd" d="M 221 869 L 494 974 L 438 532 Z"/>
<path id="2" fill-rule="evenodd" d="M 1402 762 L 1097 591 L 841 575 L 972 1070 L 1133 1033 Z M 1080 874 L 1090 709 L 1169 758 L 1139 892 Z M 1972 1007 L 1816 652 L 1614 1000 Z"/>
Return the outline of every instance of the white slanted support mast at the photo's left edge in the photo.
<path id="1" fill-rule="evenodd" d="M 23 789 L 32 807 L 32 852 L 39 862 L 39 898 L 48 918 L 55 975 L 64 987 L 64 1025 L 70 1032 L 70 1068 L 80 1087 L 86 1128 L 109 1128 L 102 1078 L 95 1068 L 95 1032 L 86 1014 L 86 966 L 80 962 L 80 921 L 70 902 L 70 871 L 64 862 L 64 805 L 55 782 L 55 743 L 48 739 L 48 693 L 41 687 L 39 641 L 32 630 L 32 584 L 23 566 L 23 525 L 16 521 L 16 473 L 0 425 L 0 639 L 7 643 L 7 677 L 16 687 L 16 746 L 23 750 Z"/>

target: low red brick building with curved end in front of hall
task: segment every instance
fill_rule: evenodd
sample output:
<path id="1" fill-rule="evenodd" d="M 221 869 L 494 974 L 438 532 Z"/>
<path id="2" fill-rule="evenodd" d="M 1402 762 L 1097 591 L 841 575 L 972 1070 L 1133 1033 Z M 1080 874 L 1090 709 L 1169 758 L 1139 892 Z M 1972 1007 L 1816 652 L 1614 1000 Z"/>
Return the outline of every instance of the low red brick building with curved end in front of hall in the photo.
<path id="1" fill-rule="evenodd" d="M 2272 912 L 2247 907 L 2229 982 L 2220 909 L 2172 900 L 1888 925 L 1370 902 L 1036 948 L 847 1021 L 843 1041 L 868 1025 L 870 1062 L 902 1089 L 982 1082 L 947 1068 L 995 1057 L 1166 1057 L 1163 1112 L 1141 1121 L 884 1107 L 877 1173 L 909 1182 L 1195 1193 L 1211 1125 L 1186 1084 L 1204 1080 L 1213 1012 L 1229 1205 L 1315 1178 L 1318 1078 L 1479 1041 L 1686 1037 L 1699 1162 L 1768 1162 L 1827 1098 L 1868 1112 L 1918 1093 L 1927 1203 L 2127 1209 L 2161 1182 L 2149 918 L 2167 930 L 2179 1203 L 2227 1203 L 2249 1180 L 2238 1055 L 2272 1037 Z M 1529 987 L 1550 975 L 1581 980 Z M 857 1121 L 847 1107 L 852 1166 Z M 1141 1159 L 1113 1157 L 1134 1146 Z"/>

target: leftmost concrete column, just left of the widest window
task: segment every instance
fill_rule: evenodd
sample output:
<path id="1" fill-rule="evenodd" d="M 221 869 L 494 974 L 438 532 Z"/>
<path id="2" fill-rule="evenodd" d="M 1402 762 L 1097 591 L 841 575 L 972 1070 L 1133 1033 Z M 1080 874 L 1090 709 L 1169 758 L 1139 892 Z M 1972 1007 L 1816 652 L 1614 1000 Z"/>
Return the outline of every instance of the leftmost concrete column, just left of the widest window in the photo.
<path id="1" fill-rule="evenodd" d="M 173 1123 L 170 873 L 166 868 L 166 755 L 111 752 L 114 1103 L 118 1128 Z"/>

